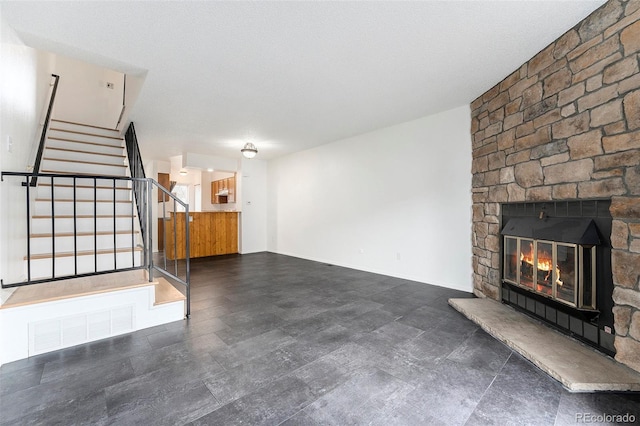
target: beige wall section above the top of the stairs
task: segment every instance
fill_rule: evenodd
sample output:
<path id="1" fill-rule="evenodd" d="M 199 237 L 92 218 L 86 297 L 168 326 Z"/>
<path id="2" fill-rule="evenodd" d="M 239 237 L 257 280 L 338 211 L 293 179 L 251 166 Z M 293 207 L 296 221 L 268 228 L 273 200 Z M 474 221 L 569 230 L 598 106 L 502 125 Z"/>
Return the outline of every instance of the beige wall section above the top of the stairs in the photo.
<path id="1" fill-rule="evenodd" d="M 115 129 L 122 112 L 124 74 L 60 55 L 52 55 L 52 60 L 53 72 L 60 76 L 54 117 Z"/>

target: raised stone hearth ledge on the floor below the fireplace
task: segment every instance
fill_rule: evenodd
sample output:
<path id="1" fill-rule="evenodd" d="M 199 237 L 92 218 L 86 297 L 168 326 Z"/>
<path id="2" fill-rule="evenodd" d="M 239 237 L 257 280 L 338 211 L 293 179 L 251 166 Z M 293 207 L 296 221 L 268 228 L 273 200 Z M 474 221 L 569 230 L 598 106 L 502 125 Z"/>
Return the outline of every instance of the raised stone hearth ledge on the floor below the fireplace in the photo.
<path id="1" fill-rule="evenodd" d="M 640 391 L 640 373 L 491 299 L 449 304 L 571 392 Z"/>

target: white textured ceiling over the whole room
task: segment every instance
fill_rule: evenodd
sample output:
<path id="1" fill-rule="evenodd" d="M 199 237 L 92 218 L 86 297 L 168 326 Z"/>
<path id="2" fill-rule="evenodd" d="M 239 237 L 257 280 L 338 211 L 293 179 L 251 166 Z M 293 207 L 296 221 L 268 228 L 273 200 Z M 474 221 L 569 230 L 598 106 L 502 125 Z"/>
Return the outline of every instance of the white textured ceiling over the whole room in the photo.
<path id="1" fill-rule="evenodd" d="M 603 0 L 0 2 L 25 43 L 146 81 L 146 158 L 270 159 L 470 103 Z"/>

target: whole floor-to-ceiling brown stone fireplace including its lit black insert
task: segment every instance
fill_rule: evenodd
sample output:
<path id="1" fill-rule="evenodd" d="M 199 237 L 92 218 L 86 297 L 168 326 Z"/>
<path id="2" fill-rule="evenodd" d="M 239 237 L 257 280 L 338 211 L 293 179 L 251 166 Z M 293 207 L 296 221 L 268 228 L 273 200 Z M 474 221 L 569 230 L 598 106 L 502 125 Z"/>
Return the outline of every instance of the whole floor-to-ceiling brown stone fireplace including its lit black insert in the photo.
<path id="1" fill-rule="evenodd" d="M 474 293 L 551 306 L 556 325 L 640 371 L 640 2 L 608 1 L 474 100 L 471 132 Z M 594 202 L 598 244 L 551 238 L 575 219 L 558 212 Z M 545 217 L 553 232 L 522 230 Z M 521 235 L 505 239 L 512 219 Z M 531 270 L 505 270 L 513 250 Z M 610 270 L 594 272 L 589 299 L 591 256 Z"/>

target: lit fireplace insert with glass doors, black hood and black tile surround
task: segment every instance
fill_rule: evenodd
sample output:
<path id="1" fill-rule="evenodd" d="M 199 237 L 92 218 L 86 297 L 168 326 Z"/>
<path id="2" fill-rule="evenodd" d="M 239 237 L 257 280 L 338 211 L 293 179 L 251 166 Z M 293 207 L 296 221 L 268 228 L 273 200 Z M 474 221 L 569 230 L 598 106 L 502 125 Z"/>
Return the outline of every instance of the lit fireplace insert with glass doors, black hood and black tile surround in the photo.
<path id="1" fill-rule="evenodd" d="M 502 300 L 613 355 L 609 200 L 502 205 Z"/>

